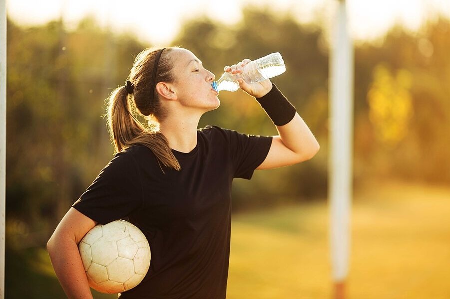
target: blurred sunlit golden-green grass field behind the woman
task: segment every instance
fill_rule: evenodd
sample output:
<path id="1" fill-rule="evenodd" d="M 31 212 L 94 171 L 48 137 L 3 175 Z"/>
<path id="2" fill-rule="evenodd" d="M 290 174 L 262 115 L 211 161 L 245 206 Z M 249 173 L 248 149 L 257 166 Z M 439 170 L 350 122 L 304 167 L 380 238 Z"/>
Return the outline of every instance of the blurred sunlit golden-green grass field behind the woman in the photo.
<path id="1" fill-rule="evenodd" d="M 331 298 L 328 224 L 325 200 L 234 214 L 227 298 Z M 450 298 L 450 187 L 365 184 L 351 230 L 349 299 Z M 65 298 L 43 249 L 6 257 L 6 298 Z"/>

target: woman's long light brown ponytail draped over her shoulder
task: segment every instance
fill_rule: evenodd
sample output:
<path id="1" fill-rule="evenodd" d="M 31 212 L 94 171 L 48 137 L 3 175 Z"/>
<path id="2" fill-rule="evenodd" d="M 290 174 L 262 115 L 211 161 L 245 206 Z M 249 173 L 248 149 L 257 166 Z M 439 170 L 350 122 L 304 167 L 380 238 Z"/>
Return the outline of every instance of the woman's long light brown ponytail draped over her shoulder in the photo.
<path id="1" fill-rule="evenodd" d="M 145 128 L 133 116 L 128 93 L 124 86 L 111 93 L 107 107 L 107 119 L 109 136 L 114 142 L 115 152 L 140 144 L 154 153 L 160 166 L 162 163 L 168 168 L 181 170 L 180 163 L 164 135 L 159 133 L 155 126 Z"/>

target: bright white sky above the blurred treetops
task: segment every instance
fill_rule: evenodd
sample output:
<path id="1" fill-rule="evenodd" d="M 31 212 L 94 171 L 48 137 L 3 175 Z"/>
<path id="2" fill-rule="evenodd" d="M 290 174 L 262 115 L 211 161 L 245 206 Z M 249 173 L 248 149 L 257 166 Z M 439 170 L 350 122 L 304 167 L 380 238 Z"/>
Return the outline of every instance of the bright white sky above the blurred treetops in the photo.
<path id="1" fill-rule="evenodd" d="M 74 26 L 86 14 L 99 24 L 118 31 L 131 30 L 142 40 L 165 45 L 179 31 L 184 19 L 207 14 L 225 24 L 241 18 L 249 3 L 267 5 L 276 11 L 291 11 L 299 22 L 310 22 L 323 13 L 331 19 L 337 0 L 7 0 L 8 16 L 17 23 L 40 24 L 63 14 Z M 277 3 L 277 4 L 274 4 Z M 347 0 L 349 24 L 355 39 L 372 39 L 395 22 L 411 30 L 435 17 L 437 11 L 450 18 L 450 0 Z"/>

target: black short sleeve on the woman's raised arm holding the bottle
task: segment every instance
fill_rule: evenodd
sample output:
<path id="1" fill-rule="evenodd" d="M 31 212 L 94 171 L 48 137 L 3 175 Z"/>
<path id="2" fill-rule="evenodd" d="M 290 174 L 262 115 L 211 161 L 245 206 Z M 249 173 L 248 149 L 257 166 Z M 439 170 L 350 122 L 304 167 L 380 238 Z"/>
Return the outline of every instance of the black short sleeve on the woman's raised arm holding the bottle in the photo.
<path id="1" fill-rule="evenodd" d="M 255 169 L 261 165 L 269 152 L 272 136 L 241 134 L 234 130 L 225 131 L 229 136 L 234 177 L 251 179 Z"/>

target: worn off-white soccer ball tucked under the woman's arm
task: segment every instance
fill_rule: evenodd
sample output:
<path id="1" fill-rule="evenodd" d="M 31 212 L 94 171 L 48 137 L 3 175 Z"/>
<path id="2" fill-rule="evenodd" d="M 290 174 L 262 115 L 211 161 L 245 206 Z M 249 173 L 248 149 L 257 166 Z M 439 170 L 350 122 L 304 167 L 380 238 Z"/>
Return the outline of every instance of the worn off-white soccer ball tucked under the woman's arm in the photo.
<path id="1" fill-rule="evenodd" d="M 89 286 L 116 294 L 136 287 L 150 267 L 145 235 L 125 220 L 97 224 L 78 245 Z"/>

